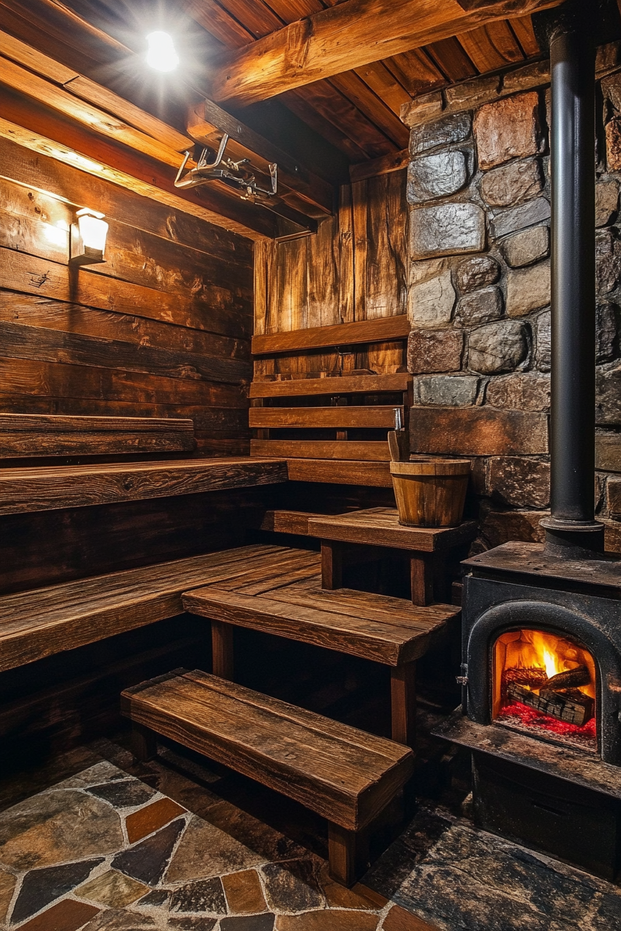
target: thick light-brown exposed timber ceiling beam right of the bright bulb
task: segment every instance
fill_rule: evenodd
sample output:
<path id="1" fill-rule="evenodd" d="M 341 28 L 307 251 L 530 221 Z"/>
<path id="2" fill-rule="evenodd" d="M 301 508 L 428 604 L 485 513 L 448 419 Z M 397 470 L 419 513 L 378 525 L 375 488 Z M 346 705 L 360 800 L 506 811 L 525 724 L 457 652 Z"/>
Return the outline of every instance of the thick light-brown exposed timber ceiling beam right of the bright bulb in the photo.
<path id="1" fill-rule="evenodd" d="M 226 55 L 210 97 L 233 106 L 362 67 L 494 20 L 558 7 L 562 0 L 344 0 Z"/>

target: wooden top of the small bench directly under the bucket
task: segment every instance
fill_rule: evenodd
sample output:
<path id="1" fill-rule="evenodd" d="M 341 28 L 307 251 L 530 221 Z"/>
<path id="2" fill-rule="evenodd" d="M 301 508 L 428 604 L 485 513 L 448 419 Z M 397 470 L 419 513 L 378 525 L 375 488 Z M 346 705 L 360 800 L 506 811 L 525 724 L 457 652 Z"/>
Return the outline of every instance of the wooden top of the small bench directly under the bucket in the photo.
<path id="1" fill-rule="evenodd" d="M 466 520 L 459 527 L 404 527 L 396 508 L 370 507 L 353 514 L 310 518 L 308 531 L 325 540 L 431 553 L 470 542 L 477 535 L 477 524 Z"/>

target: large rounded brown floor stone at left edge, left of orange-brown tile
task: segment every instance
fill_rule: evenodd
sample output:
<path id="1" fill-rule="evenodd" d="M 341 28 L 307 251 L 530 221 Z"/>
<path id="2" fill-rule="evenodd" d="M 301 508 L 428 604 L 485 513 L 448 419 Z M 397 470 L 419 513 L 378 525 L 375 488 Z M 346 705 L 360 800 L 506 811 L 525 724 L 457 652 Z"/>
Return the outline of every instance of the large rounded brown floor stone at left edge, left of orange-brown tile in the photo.
<path id="1" fill-rule="evenodd" d="M 110 805 L 69 789 L 34 795 L 0 815 L 0 863 L 16 870 L 103 856 L 123 846 Z"/>

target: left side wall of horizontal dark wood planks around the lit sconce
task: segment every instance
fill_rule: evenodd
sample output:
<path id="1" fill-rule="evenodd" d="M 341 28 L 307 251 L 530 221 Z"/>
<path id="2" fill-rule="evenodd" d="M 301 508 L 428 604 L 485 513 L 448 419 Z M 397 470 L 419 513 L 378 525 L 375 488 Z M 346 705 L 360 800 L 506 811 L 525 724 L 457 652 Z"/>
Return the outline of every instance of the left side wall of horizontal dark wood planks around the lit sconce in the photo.
<path id="1" fill-rule="evenodd" d="M 68 266 L 67 201 L 106 213 L 105 264 Z M 197 452 L 249 452 L 252 249 L 3 142 L 0 411 L 191 417 Z"/>

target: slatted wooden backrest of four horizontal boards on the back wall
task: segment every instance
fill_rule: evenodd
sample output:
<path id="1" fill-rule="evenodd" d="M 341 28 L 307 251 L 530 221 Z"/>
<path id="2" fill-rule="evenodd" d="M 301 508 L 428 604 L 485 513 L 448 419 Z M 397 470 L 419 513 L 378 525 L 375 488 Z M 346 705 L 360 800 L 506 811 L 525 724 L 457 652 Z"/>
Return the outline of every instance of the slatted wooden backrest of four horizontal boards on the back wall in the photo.
<path id="1" fill-rule="evenodd" d="M 252 352 L 272 355 L 395 340 L 407 337 L 409 330 L 405 316 L 362 320 L 255 336 Z M 250 441 L 251 455 L 286 458 L 291 480 L 392 487 L 385 439 L 364 439 L 364 432 L 392 429 L 396 407 L 407 423 L 412 404 L 412 376 L 407 372 L 254 381 L 250 399 L 250 426 L 256 430 Z M 317 429 L 329 431 L 333 439 L 275 436 L 275 431 Z M 351 431 L 356 431 L 358 439 L 352 438 Z"/>

